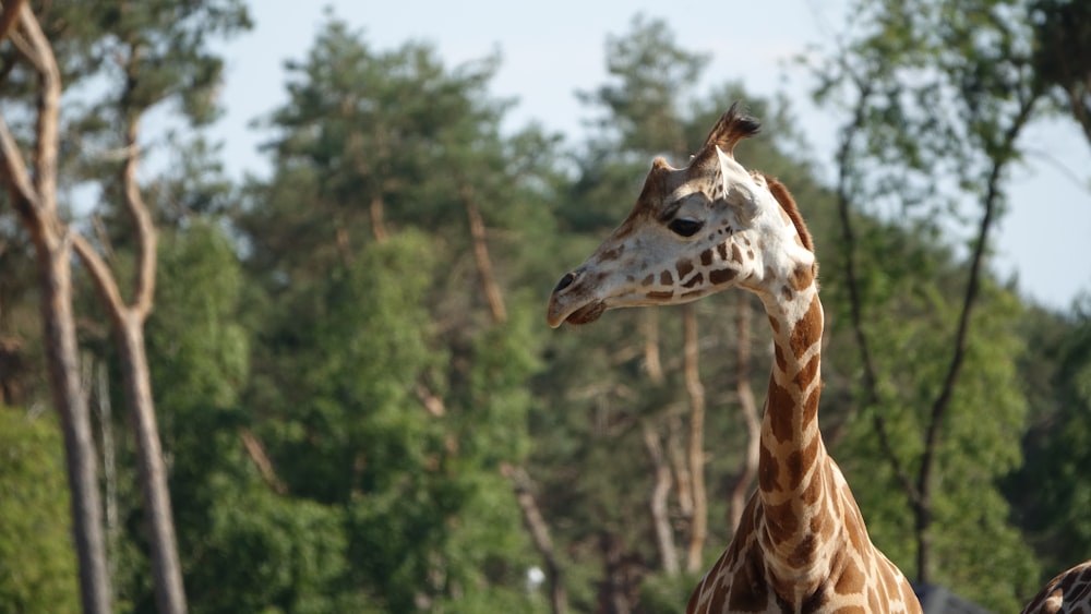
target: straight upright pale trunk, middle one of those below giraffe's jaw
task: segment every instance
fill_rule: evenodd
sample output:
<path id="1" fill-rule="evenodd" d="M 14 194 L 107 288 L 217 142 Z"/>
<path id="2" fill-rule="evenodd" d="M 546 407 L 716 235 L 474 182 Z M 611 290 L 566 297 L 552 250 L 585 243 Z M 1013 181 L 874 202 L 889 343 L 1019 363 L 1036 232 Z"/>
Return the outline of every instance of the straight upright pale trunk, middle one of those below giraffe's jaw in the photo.
<path id="1" fill-rule="evenodd" d="M 685 329 L 683 370 L 685 389 L 690 395 L 690 475 L 693 480 L 693 525 L 686 570 L 696 573 L 704 563 L 702 551 L 708 534 L 708 501 L 705 495 L 705 387 L 700 384 L 697 310 L 693 304 L 687 304 L 682 313 Z"/>

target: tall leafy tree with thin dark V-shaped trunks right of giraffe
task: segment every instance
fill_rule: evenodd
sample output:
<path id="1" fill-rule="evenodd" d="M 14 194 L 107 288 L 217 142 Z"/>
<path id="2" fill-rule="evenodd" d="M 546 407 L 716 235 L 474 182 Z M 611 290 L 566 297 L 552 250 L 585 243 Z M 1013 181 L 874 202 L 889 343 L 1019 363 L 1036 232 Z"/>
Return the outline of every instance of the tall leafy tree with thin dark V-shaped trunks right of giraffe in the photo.
<path id="1" fill-rule="evenodd" d="M 875 380 L 850 392 L 863 420 L 850 425 L 844 456 L 850 467 L 888 467 L 873 462 L 849 481 L 875 541 L 911 578 L 1016 610 L 1040 569 L 998 489 L 1022 460 L 1015 442 L 1028 399 L 1015 381 L 1024 340 L 1012 329 L 1023 312 L 985 270 L 1018 136 L 1043 97 L 1030 69 L 1030 5 L 862 2 L 853 15 L 850 52 L 816 70 L 815 94 L 851 118 L 838 195 L 855 240 L 843 234 L 838 255 L 853 258 L 855 297 L 836 280 L 850 282 L 848 264 L 834 278 L 824 272 L 835 322 L 859 314 L 849 347 L 870 349 L 870 366 L 838 368 Z"/>

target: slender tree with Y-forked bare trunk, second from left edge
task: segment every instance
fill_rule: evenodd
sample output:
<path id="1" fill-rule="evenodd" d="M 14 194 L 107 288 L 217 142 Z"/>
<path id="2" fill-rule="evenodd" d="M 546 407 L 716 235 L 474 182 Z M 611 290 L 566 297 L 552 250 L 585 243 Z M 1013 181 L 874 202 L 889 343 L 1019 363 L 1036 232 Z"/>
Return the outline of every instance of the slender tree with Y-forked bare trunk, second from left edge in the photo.
<path id="1" fill-rule="evenodd" d="M 206 33 L 230 35 L 250 24 L 236 0 L 185 7 L 173 2 L 122 2 L 99 7 L 89 16 L 100 32 L 112 35 L 97 50 L 104 59 L 115 59 L 123 77 L 118 95 L 93 108 L 94 120 L 83 121 L 86 124 L 110 118 L 119 132 L 111 134 L 106 127 L 101 131 L 100 137 L 123 152 L 120 180 L 116 185 L 107 183 L 104 192 L 118 196 L 134 229 L 136 257 L 130 299 L 122 297 L 116 274 L 89 242 L 76 237 L 74 246 L 101 297 L 119 346 L 152 533 L 148 541 L 158 609 L 184 612 L 185 594 L 144 340 L 144 323 L 152 312 L 155 292 L 156 230 L 137 183 L 140 125 L 148 110 L 176 98 L 194 125 L 208 122 L 215 112 L 213 93 L 219 83 L 221 61 L 207 51 Z M 117 141 L 111 143 L 111 137 Z M 92 164 L 88 171 L 92 176 L 106 174 L 108 166 Z"/>

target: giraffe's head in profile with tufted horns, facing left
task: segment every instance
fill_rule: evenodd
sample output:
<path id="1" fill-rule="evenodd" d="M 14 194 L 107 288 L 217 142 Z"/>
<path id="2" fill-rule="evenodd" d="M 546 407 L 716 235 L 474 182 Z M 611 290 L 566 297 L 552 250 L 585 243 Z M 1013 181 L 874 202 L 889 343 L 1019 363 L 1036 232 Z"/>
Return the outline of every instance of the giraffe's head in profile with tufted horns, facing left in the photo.
<path id="1" fill-rule="evenodd" d="M 811 236 L 788 191 L 735 161 L 735 144 L 760 129 L 736 107 L 685 168 L 652 161 L 628 217 L 553 289 L 550 326 L 594 322 L 608 309 L 685 303 L 735 286 L 775 297 L 813 282 Z"/>

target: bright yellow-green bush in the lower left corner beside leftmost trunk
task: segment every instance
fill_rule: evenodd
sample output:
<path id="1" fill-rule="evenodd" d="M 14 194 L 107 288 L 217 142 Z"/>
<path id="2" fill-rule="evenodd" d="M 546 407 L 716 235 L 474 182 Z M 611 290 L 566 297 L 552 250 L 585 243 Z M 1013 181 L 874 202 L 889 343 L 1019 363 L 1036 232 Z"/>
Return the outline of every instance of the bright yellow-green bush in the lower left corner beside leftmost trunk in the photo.
<path id="1" fill-rule="evenodd" d="M 0 406 L 0 612 L 80 610 L 61 432 Z"/>

